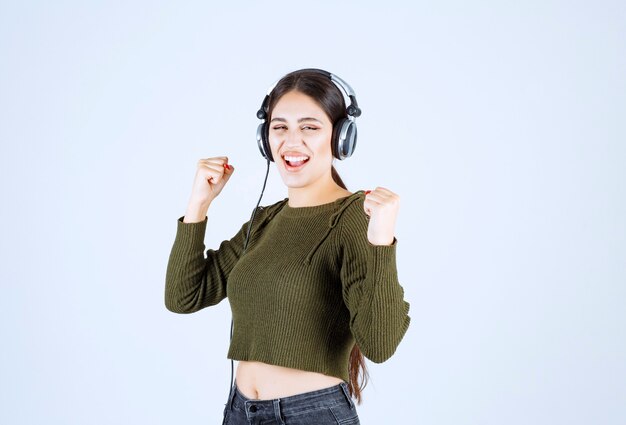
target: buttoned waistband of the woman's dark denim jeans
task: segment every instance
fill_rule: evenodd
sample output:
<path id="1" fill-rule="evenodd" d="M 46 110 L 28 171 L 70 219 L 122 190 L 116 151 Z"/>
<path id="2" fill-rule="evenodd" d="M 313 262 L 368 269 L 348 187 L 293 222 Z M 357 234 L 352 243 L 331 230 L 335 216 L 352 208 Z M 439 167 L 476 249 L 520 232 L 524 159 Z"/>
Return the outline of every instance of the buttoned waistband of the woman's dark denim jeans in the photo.
<path id="1" fill-rule="evenodd" d="M 315 408 L 331 407 L 338 404 L 347 404 L 350 408 L 354 407 L 354 402 L 350 398 L 348 385 L 341 382 L 335 386 L 322 388 L 321 390 L 309 391 L 302 394 L 296 394 L 288 397 L 281 397 L 271 400 L 255 400 L 243 395 L 237 388 L 235 381 L 231 389 L 232 407 L 245 411 L 248 415 L 258 412 L 259 414 L 277 413 L 279 410 L 285 415 L 297 413 L 304 410 Z"/>

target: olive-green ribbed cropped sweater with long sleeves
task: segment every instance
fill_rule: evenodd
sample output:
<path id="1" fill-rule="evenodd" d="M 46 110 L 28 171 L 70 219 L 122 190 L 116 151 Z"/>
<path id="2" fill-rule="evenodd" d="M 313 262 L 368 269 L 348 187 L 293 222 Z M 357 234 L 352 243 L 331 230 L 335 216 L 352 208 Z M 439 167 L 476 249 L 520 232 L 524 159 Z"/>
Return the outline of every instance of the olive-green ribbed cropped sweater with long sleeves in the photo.
<path id="1" fill-rule="evenodd" d="M 410 323 L 398 282 L 396 246 L 367 239 L 365 193 L 290 207 L 259 207 L 242 255 L 246 222 L 204 255 L 207 218 L 177 221 L 165 305 L 192 313 L 228 298 L 233 338 L 227 357 L 314 371 L 349 381 L 358 344 L 375 363 L 396 351 Z"/>

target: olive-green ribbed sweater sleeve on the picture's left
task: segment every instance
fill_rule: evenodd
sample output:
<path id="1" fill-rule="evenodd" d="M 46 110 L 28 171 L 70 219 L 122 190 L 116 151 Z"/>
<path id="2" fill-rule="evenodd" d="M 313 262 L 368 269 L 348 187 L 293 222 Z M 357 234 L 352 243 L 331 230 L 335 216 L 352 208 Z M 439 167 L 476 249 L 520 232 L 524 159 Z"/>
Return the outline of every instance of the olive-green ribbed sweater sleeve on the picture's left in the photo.
<path id="1" fill-rule="evenodd" d="M 254 220 L 255 227 L 257 218 Z M 176 238 L 170 252 L 165 278 L 165 306 L 174 313 L 193 313 L 226 298 L 226 282 L 243 251 L 246 222 L 218 250 L 204 256 L 207 217 L 198 223 L 177 220 Z M 252 232 L 253 233 L 253 232 Z M 250 235 L 252 239 L 252 234 Z"/>

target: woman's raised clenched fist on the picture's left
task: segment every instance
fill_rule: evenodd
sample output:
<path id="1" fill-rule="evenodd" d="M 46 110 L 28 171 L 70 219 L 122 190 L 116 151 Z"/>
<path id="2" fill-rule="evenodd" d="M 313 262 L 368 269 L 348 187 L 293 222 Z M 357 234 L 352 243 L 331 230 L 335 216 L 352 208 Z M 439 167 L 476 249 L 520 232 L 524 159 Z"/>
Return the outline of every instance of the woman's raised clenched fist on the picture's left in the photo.
<path id="1" fill-rule="evenodd" d="M 228 164 L 226 156 L 199 160 L 189 203 L 208 207 L 220 194 L 234 172 L 235 168 Z"/>

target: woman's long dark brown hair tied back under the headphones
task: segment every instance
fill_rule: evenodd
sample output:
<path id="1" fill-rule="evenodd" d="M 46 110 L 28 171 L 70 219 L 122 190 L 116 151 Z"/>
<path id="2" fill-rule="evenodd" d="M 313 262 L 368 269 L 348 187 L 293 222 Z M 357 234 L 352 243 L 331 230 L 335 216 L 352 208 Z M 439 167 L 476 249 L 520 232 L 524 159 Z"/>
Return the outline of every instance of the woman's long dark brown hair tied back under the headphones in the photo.
<path id="1" fill-rule="evenodd" d="M 335 83 L 330 81 L 330 78 L 315 71 L 300 70 L 293 71 L 281 78 L 270 93 L 267 107 L 268 121 L 272 117 L 272 111 L 276 103 L 278 103 L 278 100 L 283 95 L 293 90 L 303 93 L 317 102 L 328 116 L 330 122 L 333 123 L 333 126 L 341 118 L 347 118 L 348 116 L 343 94 Z M 334 166 L 331 166 L 331 175 L 335 183 L 348 190 Z M 361 372 L 360 383 L 359 372 Z M 363 391 L 367 385 L 369 373 L 365 365 L 365 357 L 363 353 L 361 353 L 358 344 L 354 344 L 350 352 L 349 375 L 350 382 L 348 383 L 348 390 L 350 396 L 356 398 L 357 404 L 361 404 L 361 391 Z"/>

